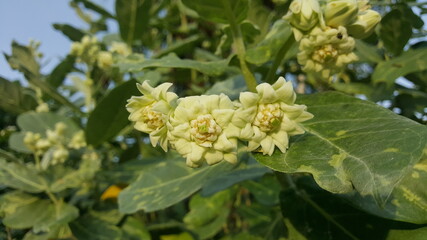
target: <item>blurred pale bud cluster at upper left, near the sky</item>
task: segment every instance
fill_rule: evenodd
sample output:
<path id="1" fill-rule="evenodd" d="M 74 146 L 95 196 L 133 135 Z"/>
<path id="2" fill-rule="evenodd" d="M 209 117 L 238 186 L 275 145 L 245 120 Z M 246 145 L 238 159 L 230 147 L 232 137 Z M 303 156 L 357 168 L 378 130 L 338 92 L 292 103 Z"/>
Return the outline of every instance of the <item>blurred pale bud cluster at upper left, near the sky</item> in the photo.
<path id="1" fill-rule="evenodd" d="M 108 70 L 114 63 L 113 54 L 127 56 L 132 50 L 126 43 L 113 42 L 109 51 L 103 51 L 96 37 L 84 36 L 80 42 L 72 43 L 70 53 L 77 57 L 77 61 L 88 65 L 96 63 L 99 68 Z"/>

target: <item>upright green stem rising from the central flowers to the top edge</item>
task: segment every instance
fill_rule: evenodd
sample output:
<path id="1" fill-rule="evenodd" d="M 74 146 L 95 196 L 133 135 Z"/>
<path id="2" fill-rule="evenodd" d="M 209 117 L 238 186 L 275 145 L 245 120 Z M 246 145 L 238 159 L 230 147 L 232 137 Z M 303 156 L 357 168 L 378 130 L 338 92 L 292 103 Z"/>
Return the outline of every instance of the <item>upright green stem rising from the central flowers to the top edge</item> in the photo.
<path id="1" fill-rule="evenodd" d="M 243 77 L 245 78 L 246 86 L 248 87 L 249 91 L 255 92 L 257 83 L 254 75 L 246 64 L 246 49 L 245 43 L 243 42 L 242 30 L 240 29 L 239 24 L 236 22 L 236 18 L 234 17 L 229 0 L 222 0 L 222 5 L 225 7 L 228 20 L 230 21 L 231 34 L 233 35 L 233 44 L 236 49 L 237 58 L 239 59 L 240 69 L 242 70 Z"/>

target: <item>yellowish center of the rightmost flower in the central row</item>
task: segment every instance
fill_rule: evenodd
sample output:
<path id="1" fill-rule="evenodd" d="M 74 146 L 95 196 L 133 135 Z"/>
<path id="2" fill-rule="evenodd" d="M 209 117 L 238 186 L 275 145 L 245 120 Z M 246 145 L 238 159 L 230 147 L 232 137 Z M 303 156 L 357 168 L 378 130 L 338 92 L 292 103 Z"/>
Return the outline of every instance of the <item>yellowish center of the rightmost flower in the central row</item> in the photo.
<path id="1" fill-rule="evenodd" d="M 253 125 L 259 127 L 263 132 L 269 132 L 280 126 L 282 116 L 280 104 L 260 104 Z"/>

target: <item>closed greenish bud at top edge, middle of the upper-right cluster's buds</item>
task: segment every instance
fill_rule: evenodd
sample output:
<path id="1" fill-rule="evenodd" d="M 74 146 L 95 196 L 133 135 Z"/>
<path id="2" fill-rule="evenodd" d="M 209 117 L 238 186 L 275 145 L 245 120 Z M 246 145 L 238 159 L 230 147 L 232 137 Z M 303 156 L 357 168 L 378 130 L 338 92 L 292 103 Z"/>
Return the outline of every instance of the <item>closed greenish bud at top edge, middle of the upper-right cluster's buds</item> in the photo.
<path id="1" fill-rule="evenodd" d="M 354 22 L 359 11 L 356 0 L 329 0 L 325 8 L 325 22 L 330 27 L 346 26 Z"/>

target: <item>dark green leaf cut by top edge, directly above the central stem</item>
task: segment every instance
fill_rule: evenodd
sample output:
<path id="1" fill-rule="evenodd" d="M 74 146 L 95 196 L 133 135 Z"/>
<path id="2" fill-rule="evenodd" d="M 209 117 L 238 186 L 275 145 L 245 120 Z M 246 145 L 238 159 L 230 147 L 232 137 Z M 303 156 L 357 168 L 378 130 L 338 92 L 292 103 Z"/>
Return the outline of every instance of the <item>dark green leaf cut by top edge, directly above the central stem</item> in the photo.
<path id="1" fill-rule="evenodd" d="M 208 21 L 230 23 L 231 17 L 235 23 L 245 20 L 248 13 L 248 0 L 183 0 L 187 7 L 196 11 L 199 16 Z"/>

